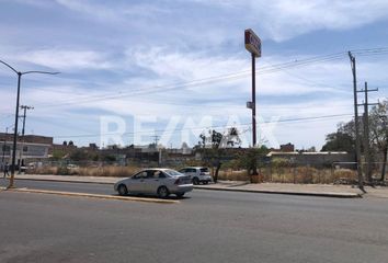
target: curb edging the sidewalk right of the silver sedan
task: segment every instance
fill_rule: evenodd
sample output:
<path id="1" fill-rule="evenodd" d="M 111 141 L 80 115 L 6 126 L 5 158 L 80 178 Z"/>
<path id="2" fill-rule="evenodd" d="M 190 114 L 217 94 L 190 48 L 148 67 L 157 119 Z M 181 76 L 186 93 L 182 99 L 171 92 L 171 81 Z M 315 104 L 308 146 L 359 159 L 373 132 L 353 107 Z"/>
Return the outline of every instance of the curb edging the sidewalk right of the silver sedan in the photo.
<path id="1" fill-rule="evenodd" d="M 213 191 L 230 191 L 230 192 L 242 192 L 242 193 L 259 193 L 259 194 L 282 194 L 282 195 L 301 195 L 301 196 L 317 196 L 317 197 L 333 197 L 333 198 L 362 198 L 361 194 L 356 193 L 333 193 L 333 192 L 287 192 L 287 191 L 276 191 L 276 190 L 241 190 L 241 188 L 216 188 L 216 187 L 204 187 L 195 186 L 198 190 L 213 190 Z"/>

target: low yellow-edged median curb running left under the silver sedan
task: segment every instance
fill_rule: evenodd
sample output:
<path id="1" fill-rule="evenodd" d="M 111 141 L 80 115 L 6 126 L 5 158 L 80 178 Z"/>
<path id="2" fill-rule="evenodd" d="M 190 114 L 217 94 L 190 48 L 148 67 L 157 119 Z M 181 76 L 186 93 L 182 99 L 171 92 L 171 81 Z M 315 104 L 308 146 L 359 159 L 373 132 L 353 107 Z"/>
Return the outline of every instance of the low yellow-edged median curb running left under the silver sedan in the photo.
<path id="1" fill-rule="evenodd" d="M 115 195 L 100 195 L 100 194 L 87 194 L 87 193 L 73 193 L 73 192 L 61 192 L 61 191 L 47 191 L 47 190 L 33 190 L 33 188 L 1 188 L 1 191 L 11 191 L 20 193 L 33 193 L 33 194 L 52 194 L 61 196 L 75 196 L 75 197 L 90 197 L 98 199 L 117 199 L 117 201 L 133 201 L 133 202 L 144 202 L 144 203 L 156 203 L 156 204 L 180 204 L 180 201 L 173 199 L 157 199 L 157 198 L 142 198 L 142 197 L 127 197 L 127 196 L 115 196 Z"/>

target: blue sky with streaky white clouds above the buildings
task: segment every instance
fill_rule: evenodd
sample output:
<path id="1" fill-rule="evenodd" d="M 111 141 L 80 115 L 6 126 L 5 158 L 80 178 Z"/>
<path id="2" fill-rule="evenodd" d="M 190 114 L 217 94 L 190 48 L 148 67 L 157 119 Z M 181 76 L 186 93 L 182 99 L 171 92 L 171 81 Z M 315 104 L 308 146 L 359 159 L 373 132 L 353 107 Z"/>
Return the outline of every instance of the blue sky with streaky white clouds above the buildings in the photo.
<path id="1" fill-rule="evenodd" d="M 248 145 L 251 61 L 243 31 L 251 27 L 263 48 L 259 137 L 272 147 L 320 148 L 353 113 L 345 52 L 388 46 L 386 0 L 0 0 L 0 59 L 20 71 L 61 72 L 22 79 L 21 102 L 35 107 L 26 132 L 56 142 L 99 144 L 101 117 L 118 116 L 126 125 L 123 144 L 134 141 L 136 122 L 148 119 L 142 126 L 155 130 L 141 130 L 144 142 L 159 135 L 166 146 L 193 145 L 202 129 L 229 124 Z M 387 53 L 355 55 L 360 88 L 368 81 L 380 88 L 369 100 L 383 100 Z M 273 70 L 285 62 L 292 64 Z M 0 65 L 1 130 L 13 124 L 15 88 L 16 76 Z M 327 115 L 341 116 L 286 122 Z M 182 135 L 191 127 L 195 132 Z"/>

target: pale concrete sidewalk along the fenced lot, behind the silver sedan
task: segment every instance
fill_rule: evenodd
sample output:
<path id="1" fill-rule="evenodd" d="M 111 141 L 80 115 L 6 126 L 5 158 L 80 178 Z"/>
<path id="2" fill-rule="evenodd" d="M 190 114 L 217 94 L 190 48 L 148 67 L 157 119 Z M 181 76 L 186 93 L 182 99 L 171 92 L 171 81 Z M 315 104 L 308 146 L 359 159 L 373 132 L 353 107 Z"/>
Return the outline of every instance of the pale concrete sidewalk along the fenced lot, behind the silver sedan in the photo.
<path id="1" fill-rule="evenodd" d="M 121 178 L 102 176 L 77 176 L 77 175 L 37 175 L 37 174 L 16 174 L 15 180 L 36 180 L 36 181 L 58 181 L 58 182 L 79 182 L 79 183 L 100 183 L 114 184 Z M 217 184 L 195 185 L 195 188 L 213 191 L 235 191 L 266 194 L 287 194 L 287 195 L 309 195 L 339 198 L 354 197 L 380 197 L 388 198 L 388 187 L 366 187 L 364 194 L 351 185 L 329 185 L 329 184 L 283 184 L 283 183 L 261 183 L 250 184 L 237 181 L 219 181 Z"/>

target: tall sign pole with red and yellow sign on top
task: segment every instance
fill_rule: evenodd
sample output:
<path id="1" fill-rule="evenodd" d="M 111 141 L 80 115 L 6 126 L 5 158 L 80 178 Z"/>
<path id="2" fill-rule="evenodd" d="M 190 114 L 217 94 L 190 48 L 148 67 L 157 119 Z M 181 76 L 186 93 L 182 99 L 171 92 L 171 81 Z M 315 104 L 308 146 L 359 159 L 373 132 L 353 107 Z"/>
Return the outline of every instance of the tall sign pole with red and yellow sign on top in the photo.
<path id="1" fill-rule="evenodd" d="M 246 30 L 246 48 L 252 56 L 252 101 L 247 103 L 247 107 L 252 110 L 252 146 L 256 146 L 256 87 L 255 87 L 255 58 L 261 57 L 261 39 L 252 31 Z"/>

